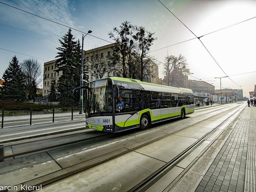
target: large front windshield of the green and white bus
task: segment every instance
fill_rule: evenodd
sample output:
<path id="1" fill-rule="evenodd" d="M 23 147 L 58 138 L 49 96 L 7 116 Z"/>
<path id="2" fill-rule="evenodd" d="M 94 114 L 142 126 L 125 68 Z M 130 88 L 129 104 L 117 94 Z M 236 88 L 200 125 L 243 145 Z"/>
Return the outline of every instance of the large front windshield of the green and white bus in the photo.
<path id="1" fill-rule="evenodd" d="M 88 117 L 91 115 L 110 114 L 112 109 L 112 86 L 111 81 L 102 79 L 89 83 L 87 93 Z"/>

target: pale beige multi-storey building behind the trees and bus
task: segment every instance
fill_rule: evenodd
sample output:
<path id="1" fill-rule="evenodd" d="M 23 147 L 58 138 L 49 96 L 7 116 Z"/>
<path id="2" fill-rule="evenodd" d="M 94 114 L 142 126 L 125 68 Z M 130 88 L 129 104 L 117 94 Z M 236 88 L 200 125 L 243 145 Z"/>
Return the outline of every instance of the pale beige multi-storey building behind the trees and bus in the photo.
<path id="1" fill-rule="evenodd" d="M 83 50 L 84 76 L 87 76 L 89 81 L 97 79 L 93 65 L 98 66 L 98 68 L 103 67 L 103 65 L 107 65 L 108 69 L 111 69 L 108 72 L 101 74 L 102 77 L 100 78 L 120 75 L 119 70 L 115 70 L 117 69 L 115 66 L 118 66 L 117 63 L 111 59 L 111 56 L 117 54 L 113 47 L 114 43 L 111 43 L 91 50 Z M 149 83 L 158 83 L 158 66 L 151 59 L 145 59 L 144 62 L 146 66 L 150 68 L 150 74 L 145 75 L 144 81 Z M 56 81 L 58 82 L 59 77 L 62 75 L 61 71 L 57 73 L 55 70 L 56 59 L 44 63 L 43 96 L 49 94 L 52 79 L 56 78 Z"/>

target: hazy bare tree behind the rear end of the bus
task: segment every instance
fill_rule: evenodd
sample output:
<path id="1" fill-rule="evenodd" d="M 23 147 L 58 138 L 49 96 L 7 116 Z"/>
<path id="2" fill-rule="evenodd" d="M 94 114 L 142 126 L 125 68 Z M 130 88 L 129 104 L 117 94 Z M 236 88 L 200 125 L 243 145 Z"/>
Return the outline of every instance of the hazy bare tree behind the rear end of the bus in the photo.
<path id="1" fill-rule="evenodd" d="M 167 85 L 172 85 L 172 82 L 174 80 L 174 74 L 171 75 L 171 72 L 174 70 L 175 67 L 183 74 L 190 73 L 187 60 L 183 55 L 180 54 L 179 57 L 176 57 L 174 55 L 165 57 L 163 73 L 167 78 Z"/>

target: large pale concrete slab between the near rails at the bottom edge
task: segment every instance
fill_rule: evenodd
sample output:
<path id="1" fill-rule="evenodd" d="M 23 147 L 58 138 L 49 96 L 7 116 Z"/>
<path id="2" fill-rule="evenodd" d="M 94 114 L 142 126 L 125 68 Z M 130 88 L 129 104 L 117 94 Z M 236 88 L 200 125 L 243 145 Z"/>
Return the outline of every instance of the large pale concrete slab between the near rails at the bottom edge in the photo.
<path id="1" fill-rule="evenodd" d="M 42 192 L 125 192 L 164 164 L 157 159 L 131 152 L 46 186 Z"/>

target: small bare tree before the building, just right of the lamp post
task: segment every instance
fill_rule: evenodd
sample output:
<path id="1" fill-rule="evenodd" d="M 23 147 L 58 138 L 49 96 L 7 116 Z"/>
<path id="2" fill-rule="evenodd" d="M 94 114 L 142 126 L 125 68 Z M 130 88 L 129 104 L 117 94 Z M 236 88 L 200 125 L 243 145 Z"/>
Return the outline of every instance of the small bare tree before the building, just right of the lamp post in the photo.
<path id="1" fill-rule="evenodd" d="M 90 58 L 90 64 L 88 63 L 89 71 L 95 79 L 102 79 L 107 72 L 112 72 L 114 67 L 111 64 L 110 58 L 101 58 L 100 53 L 97 48 L 88 53 Z"/>

